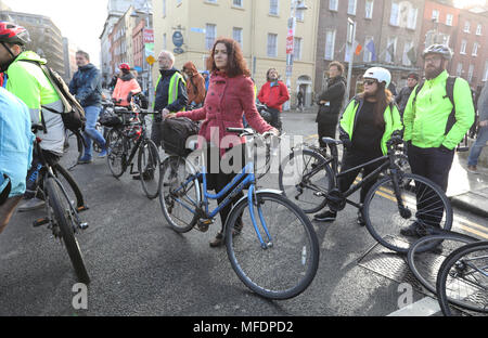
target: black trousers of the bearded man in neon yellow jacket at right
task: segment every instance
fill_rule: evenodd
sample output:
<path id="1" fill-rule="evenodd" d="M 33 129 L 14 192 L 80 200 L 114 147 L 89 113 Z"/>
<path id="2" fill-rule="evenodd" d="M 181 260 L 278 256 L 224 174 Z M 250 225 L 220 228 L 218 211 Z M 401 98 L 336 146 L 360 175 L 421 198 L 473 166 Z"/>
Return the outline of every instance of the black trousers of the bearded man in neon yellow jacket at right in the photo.
<path id="1" fill-rule="evenodd" d="M 454 151 L 441 152 L 439 148 L 421 148 L 414 145 L 408 146 L 409 162 L 412 173 L 422 176 L 447 192 L 449 171 L 454 159 Z M 433 191 L 426 190 L 423 184 L 416 188 L 416 218 L 427 225 L 438 226 L 442 220 L 444 205 L 440 199 L 435 198 Z"/>

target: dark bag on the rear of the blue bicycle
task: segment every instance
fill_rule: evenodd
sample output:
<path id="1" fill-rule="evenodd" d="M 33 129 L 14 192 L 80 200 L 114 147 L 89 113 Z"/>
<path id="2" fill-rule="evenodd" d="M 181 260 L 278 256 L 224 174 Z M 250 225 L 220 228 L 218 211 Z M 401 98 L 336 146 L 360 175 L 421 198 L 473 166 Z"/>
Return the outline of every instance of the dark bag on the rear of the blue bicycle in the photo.
<path id="1" fill-rule="evenodd" d="M 179 156 L 188 156 L 187 140 L 200 131 L 198 123 L 187 117 L 167 118 L 160 122 L 162 147 Z"/>

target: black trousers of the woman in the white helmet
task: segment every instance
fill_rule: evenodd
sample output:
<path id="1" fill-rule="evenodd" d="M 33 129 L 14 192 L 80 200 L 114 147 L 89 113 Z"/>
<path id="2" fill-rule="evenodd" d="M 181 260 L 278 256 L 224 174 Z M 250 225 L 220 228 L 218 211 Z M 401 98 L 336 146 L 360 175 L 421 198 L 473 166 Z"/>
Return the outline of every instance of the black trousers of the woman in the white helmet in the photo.
<path id="1" fill-rule="evenodd" d="M 341 168 L 341 172 L 347 171 L 351 168 L 363 165 L 370 160 L 373 160 L 373 159 L 382 157 L 382 156 L 383 156 L 383 154 L 378 153 L 378 152 L 367 153 L 367 152 L 355 151 L 355 150 L 346 151 L 343 156 L 343 166 Z M 348 172 L 345 176 L 339 177 L 338 181 L 337 181 L 339 191 L 343 193 L 347 192 L 347 190 L 349 190 L 350 185 L 355 182 L 356 178 L 361 172 L 361 170 L 362 170 L 362 177 L 367 177 L 368 174 L 370 174 L 371 172 L 376 170 L 378 167 L 381 167 L 384 162 L 385 162 L 384 160 L 377 161 L 377 162 L 374 162 L 372 165 L 364 167 L 363 169 L 356 169 L 356 170 L 352 170 L 351 172 Z M 367 196 L 368 192 L 370 191 L 370 188 L 374 185 L 374 183 L 376 183 L 377 177 L 378 176 L 375 176 L 370 182 L 365 183 L 361 187 L 361 193 L 360 193 L 360 203 L 361 204 L 364 202 L 365 196 Z"/>

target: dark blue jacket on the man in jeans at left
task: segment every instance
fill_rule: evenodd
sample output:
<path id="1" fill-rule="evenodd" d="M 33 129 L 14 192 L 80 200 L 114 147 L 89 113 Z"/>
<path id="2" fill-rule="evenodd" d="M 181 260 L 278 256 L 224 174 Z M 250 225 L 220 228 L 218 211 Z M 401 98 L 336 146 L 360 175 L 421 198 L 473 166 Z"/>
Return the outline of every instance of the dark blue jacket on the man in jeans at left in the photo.
<path id="1" fill-rule="evenodd" d="M 102 106 L 102 77 L 100 70 L 91 63 L 79 67 L 69 82 L 69 92 L 81 106 Z"/>

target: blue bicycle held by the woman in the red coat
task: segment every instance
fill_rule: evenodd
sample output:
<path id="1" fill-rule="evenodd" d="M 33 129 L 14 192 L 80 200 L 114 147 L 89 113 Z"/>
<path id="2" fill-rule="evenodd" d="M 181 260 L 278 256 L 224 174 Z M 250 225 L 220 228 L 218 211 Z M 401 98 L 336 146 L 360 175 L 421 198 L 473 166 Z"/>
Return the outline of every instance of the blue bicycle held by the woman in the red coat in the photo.
<path id="1" fill-rule="evenodd" d="M 252 129 L 228 128 L 228 131 L 257 136 Z M 169 156 L 162 164 L 160 207 L 175 231 L 205 232 L 219 211 L 247 190 L 233 206 L 224 226 L 229 260 L 241 281 L 256 294 L 288 299 L 312 282 L 319 266 L 319 242 L 308 217 L 282 192 L 256 190 L 254 170 L 255 164 L 247 162 L 232 182 L 213 195 L 207 192 L 205 166 L 197 170 L 190 159 Z M 210 211 L 209 200 L 228 193 Z"/>

